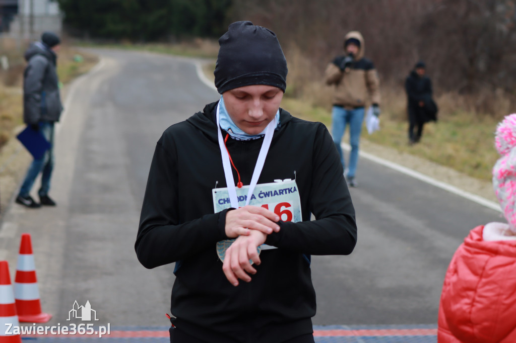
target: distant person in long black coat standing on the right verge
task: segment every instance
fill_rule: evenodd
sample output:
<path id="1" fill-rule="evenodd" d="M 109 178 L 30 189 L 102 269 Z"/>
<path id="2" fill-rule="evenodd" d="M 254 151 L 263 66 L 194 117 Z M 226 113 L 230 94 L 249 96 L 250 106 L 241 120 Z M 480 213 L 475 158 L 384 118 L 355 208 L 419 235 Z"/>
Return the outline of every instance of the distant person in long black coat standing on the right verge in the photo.
<path id="1" fill-rule="evenodd" d="M 432 82 L 425 75 L 425 69 L 423 61 L 417 62 L 414 70 L 405 81 L 405 90 L 408 97 L 410 145 L 421 140 L 425 123 L 437 120 L 437 107 L 432 100 Z M 415 134 L 414 128 L 417 128 Z"/>

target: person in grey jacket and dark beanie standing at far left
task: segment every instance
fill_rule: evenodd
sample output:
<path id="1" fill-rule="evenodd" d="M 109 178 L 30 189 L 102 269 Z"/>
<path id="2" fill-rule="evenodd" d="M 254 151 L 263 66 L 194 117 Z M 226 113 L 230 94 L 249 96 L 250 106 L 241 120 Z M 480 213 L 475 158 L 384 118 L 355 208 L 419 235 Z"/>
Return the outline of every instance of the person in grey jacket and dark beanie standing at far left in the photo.
<path id="1" fill-rule="evenodd" d="M 23 120 L 33 130 L 40 131 L 51 144 L 41 158 L 30 164 L 15 200 L 28 208 L 56 205 L 49 197 L 49 191 L 54 169 L 54 123 L 59 121 L 63 109 L 56 71 L 56 54 L 59 48 L 59 37 L 53 32 L 44 32 L 41 41 L 33 43 L 25 52 L 27 66 L 23 73 Z M 40 173 L 41 187 L 38 195 L 41 205 L 29 195 Z"/>

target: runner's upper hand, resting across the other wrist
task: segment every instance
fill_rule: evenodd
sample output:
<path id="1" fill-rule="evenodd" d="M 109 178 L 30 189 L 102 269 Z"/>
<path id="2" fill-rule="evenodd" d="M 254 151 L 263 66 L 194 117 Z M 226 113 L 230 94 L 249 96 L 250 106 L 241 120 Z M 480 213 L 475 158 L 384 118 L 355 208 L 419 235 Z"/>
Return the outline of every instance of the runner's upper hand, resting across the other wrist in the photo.
<path id="1" fill-rule="evenodd" d="M 247 236 L 251 230 L 261 231 L 265 234 L 280 231 L 276 224 L 280 217 L 263 207 L 247 205 L 236 210 L 226 212 L 225 234 L 229 238 L 240 235 Z"/>

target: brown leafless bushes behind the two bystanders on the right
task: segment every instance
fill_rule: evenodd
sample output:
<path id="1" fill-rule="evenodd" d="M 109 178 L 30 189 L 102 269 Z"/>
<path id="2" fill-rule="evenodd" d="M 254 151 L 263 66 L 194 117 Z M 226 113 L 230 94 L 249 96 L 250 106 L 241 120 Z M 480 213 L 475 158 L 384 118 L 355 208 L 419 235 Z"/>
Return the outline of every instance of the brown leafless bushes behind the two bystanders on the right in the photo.
<path id="1" fill-rule="evenodd" d="M 399 98 L 393 101 L 395 112 L 400 112 L 400 99 L 405 96 L 405 77 L 422 59 L 427 62 L 437 96 L 452 92 L 463 97 L 456 103 L 466 109 L 495 114 L 516 105 L 515 3 L 234 0 L 232 16 L 277 33 L 287 46 L 289 77 L 295 82 L 293 95 L 297 97 L 312 98 L 318 104 L 324 101 L 326 90 L 314 84 L 321 85 L 327 63 L 343 53 L 345 34 L 359 30 L 365 40 L 365 55 L 379 72 L 382 92 Z"/>

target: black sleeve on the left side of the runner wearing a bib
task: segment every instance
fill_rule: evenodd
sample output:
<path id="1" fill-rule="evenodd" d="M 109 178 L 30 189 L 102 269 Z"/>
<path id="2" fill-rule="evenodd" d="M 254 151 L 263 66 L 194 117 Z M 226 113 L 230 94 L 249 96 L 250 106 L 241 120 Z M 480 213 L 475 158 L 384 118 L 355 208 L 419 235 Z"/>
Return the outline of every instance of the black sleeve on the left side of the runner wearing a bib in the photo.
<path id="1" fill-rule="evenodd" d="M 227 210 L 180 222 L 178 161 L 162 141 L 163 137 L 154 151 L 135 243 L 138 260 L 149 269 L 185 259 L 227 239 Z"/>

